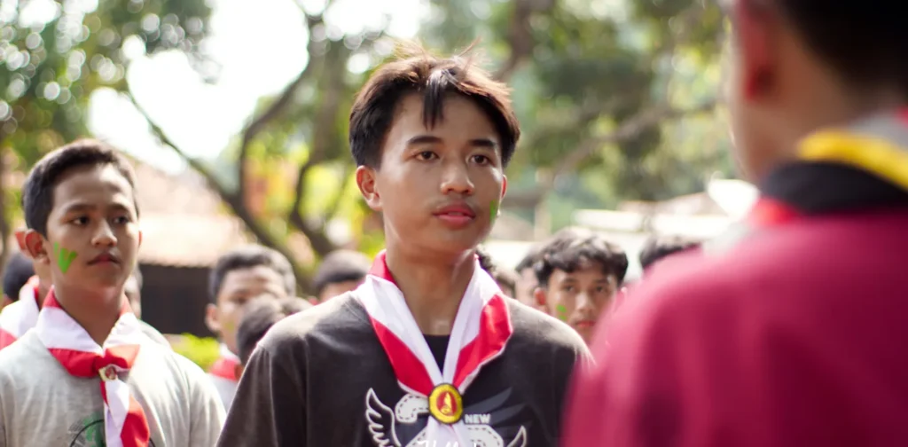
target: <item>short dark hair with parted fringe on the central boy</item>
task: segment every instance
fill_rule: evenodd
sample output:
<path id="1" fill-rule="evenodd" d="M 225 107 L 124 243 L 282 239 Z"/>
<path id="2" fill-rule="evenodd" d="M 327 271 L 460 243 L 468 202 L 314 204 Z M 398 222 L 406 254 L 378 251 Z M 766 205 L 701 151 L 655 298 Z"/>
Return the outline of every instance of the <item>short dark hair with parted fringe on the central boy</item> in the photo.
<path id="1" fill-rule="evenodd" d="M 459 94 L 479 105 L 501 139 L 501 162 L 507 166 L 517 147 L 520 128 L 508 86 L 463 56 L 439 58 L 409 48 L 407 58 L 381 65 L 363 85 L 350 110 L 350 151 L 357 165 L 378 169 L 385 141 L 401 98 L 422 94 L 427 128 L 444 120 L 444 101 Z"/>

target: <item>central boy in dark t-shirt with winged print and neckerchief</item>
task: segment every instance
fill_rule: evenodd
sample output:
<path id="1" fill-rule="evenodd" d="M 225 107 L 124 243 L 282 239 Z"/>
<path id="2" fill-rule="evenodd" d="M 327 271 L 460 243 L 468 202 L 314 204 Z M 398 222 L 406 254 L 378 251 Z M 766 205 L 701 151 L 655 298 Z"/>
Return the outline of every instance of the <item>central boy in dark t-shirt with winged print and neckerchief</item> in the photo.
<path id="1" fill-rule="evenodd" d="M 386 251 L 358 289 L 277 323 L 222 446 L 553 446 L 587 347 L 479 266 L 519 136 L 508 89 L 461 57 L 381 66 L 350 114 Z"/>

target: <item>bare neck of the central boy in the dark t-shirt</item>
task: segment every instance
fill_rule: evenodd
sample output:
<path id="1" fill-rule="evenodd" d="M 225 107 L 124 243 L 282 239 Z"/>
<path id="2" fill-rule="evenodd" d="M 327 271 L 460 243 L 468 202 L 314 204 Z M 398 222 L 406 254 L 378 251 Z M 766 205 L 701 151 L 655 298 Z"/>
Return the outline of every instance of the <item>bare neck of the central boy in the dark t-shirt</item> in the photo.
<path id="1" fill-rule="evenodd" d="M 426 335 L 448 335 L 460 300 L 473 278 L 472 251 L 455 259 L 420 256 L 418 259 L 388 247 L 385 262 L 403 293 L 419 330 Z"/>

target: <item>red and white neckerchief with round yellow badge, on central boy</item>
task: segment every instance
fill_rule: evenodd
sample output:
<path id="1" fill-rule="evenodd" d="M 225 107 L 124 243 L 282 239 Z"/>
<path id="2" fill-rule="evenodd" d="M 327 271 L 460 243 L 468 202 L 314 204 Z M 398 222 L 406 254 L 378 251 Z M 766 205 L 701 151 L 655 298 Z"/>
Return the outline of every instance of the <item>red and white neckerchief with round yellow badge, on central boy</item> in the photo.
<path id="1" fill-rule="evenodd" d="M 472 445 L 461 421 L 462 395 L 479 370 L 504 351 L 513 332 L 508 303 L 498 283 L 477 261 L 451 328 L 441 371 L 388 270 L 385 252 L 375 258 L 355 295 L 369 313 L 400 388 L 414 398 L 426 399 L 432 417 L 421 441 Z"/>

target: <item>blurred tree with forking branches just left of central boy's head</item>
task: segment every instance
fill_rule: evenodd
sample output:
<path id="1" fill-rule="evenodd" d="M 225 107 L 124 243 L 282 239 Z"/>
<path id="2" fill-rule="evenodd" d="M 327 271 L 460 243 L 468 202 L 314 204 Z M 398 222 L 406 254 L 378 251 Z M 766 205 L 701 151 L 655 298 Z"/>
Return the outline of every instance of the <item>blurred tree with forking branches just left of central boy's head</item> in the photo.
<path id="1" fill-rule="evenodd" d="M 317 256 L 344 242 L 361 249 L 374 245 L 370 234 L 354 234 L 361 236 L 354 241 L 332 239 L 329 234 L 332 225 L 361 228 L 370 218 L 357 200 L 351 176 L 348 116 L 364 80 L 364 70 L 352 71 L 351 66 L 359 59 L 368 68 L 374 65 L 373 59 L 382 57 L 382 49 L 385 54 L 393 49 L 383 27 L 345 35 L 326 23 L 323 15 L 331 5 L 328 0 L 316 12 L 300 5 L 310 36 L 307 65 L 280 94 L 260 101 L 217 164 L 186 154 L 133 98 L 149 119 L 153 134 L 205 177 L 260 242 L 291 260 L 304 290 L 308 290 L 311 270 L 306 267 L 311 265 L 303 266 L 299 235 L 305 236 Z M 231 166 L 229 176 L 218 174 L 224 159 Z"/>

